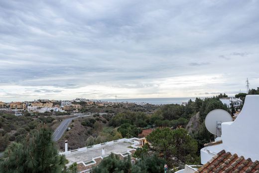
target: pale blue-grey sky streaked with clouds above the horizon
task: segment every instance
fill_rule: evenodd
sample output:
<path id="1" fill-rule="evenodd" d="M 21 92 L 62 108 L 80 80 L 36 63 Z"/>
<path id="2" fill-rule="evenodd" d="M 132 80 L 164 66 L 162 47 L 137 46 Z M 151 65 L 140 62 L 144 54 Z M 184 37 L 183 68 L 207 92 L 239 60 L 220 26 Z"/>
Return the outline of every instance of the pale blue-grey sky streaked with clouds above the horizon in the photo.
<path id="1" fill-rule="evenodd" d="M 0 0 L 0 101 L 259 87 L 258 0 Z"/>

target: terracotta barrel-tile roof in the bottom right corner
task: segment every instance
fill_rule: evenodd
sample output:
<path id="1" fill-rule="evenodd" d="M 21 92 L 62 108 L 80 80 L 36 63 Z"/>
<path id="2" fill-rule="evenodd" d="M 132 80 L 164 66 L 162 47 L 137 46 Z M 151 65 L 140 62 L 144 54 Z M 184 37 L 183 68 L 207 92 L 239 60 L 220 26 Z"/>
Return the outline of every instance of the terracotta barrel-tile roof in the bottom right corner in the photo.
<path id="1" fill-rule="evenodd" d="M 196 173 L 259 173 L 259 161 L 222 150 Z"/>

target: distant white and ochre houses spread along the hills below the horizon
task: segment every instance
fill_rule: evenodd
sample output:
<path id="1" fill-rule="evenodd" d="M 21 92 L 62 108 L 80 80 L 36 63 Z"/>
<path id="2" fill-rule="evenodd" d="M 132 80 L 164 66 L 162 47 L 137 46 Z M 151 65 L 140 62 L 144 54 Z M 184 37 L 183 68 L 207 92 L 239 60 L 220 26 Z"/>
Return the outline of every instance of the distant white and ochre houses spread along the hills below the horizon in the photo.
<path id="1" fill-rule="evenodd" d="M 223 97 L 220 98 L 223 104 L 226 104 L 228 108 L 233 107 L 237 110 L 243 104 L 240 98 L 235 97 Z M 9 102 L 5 103 L 0 101 L 0 110 L 14 113 L 16 116 L 24 115 L 26 113 L 79 113 L 84 112 L 87 108 L 95 107 L 111 107 L 118 104 L 128 104 L 128 102 L 108 102 L 101 100 L 89 100 L 85 98 L 76 98 L 73 100 L 49 100 L 39 99 L 34 101 L 23 102 Z M 133 103 L 138 105 L 145 105 L 147 103 Z M 181 105 L 186 105 L 187 102 L 182 102 Z"/>

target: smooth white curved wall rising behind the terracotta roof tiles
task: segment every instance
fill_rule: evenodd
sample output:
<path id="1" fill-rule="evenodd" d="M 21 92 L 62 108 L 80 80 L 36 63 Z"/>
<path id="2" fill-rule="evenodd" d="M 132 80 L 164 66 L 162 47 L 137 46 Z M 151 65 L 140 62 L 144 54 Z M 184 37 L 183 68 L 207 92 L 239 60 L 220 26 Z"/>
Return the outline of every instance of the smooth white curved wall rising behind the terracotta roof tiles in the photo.
<path id="1" fill-rule="evenodd" d="M 259 95 L 248 95 L 237 119 L 222 123 L 222 141 L 226 152 L 259 160 Z"/>

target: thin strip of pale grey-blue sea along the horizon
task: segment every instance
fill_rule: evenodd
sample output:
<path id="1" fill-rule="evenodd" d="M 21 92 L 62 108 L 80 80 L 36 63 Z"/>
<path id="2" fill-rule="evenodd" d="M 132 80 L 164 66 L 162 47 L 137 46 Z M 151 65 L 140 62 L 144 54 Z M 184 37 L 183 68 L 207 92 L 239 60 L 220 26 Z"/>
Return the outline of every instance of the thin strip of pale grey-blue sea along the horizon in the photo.
<path id="1" fill-rule="evenodd" d="M 204 97 L 200 97 L 204 98 Z M 154 105 L 165 105 L 165 104 L 182 104 L 189 100 L 195 101 L 196 97 L 174 97 L 174 98 L 139 98 L 139 99 L 105 99 L 101 101 L 107 102 L 124 102 L 124 103 L 136 103 L 136 104 L 154 104 Z"/>

